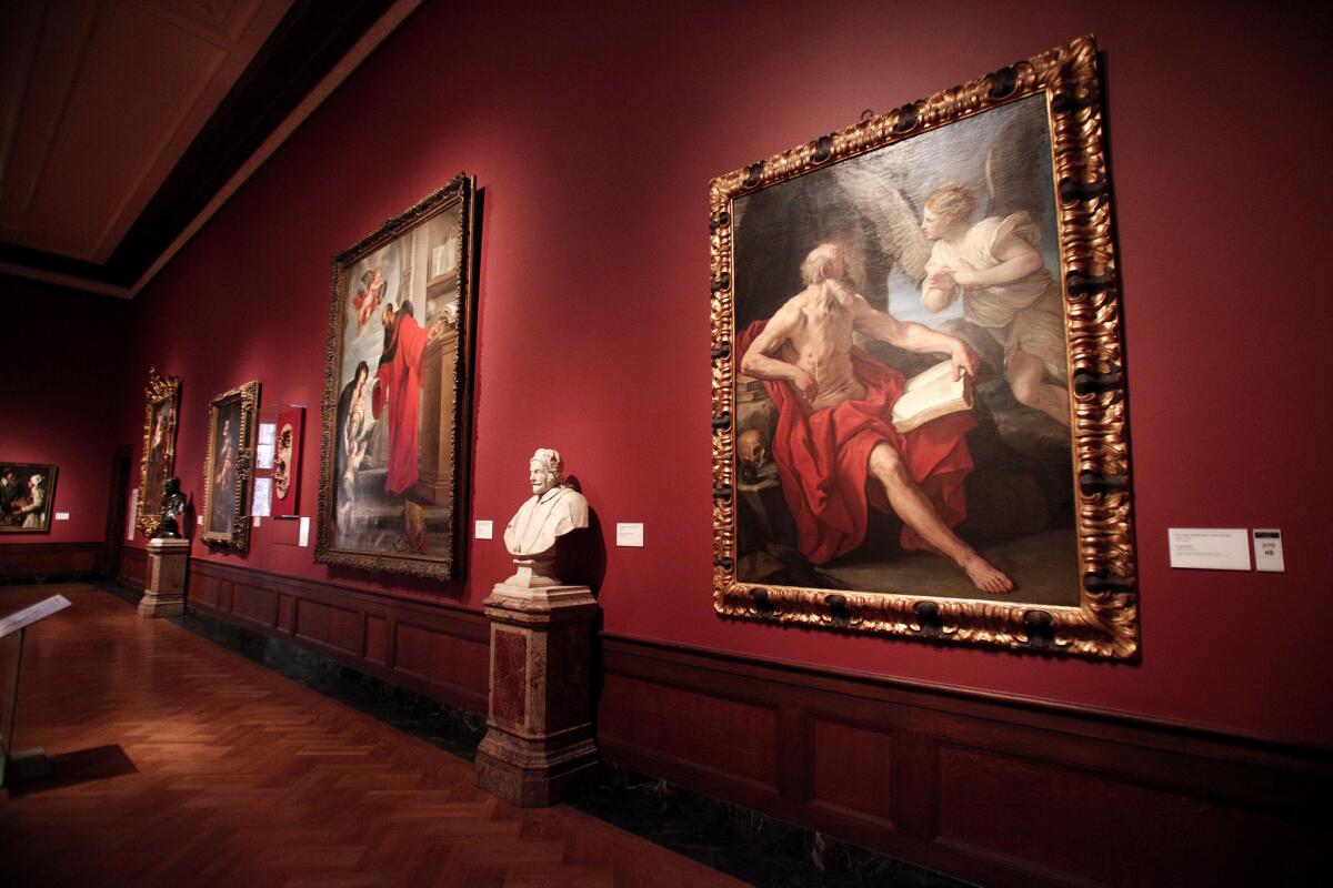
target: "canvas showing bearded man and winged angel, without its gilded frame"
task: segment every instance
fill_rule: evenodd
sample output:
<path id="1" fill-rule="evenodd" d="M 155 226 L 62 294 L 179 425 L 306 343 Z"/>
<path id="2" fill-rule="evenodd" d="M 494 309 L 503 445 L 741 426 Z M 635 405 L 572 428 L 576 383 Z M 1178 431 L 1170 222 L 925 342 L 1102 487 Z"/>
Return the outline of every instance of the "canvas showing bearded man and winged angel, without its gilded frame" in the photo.
<path id="1" fill-rule="evenodd" d="M 1058 603 L 1076 551 L 1044 101 L 736 210 L 740 578 Z M 897 407 L 926 378 L 957 398 L 913 425 Z"/>

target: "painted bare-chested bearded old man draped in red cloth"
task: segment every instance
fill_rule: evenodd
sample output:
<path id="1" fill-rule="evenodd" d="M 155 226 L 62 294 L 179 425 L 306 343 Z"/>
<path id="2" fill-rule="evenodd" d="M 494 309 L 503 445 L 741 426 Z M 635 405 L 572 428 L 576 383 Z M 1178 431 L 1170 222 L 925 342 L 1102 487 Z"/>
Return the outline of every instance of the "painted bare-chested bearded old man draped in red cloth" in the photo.
<path id="1" fill-rule="evenodd" d="M 977 354 L 962 339 L 872 308 L 836 244 L 814 248 L 801 276 L 805 289 L 740 342 L 741 371 L 764 379 L 778 409 L 773 457 L 801 553 L 824 564 L 852 551 L 874 505 L 902 519 L 905 549 L 949 558 L 980 591 L 1010 591 L 1013 580 L 952 530 L 966 517 L 962 481 L 972 455 L 962 437 L 976 425 L 972 414 L 898 433 L 892 413 L 905 379 L 853 346 L 852 334 L 948 354 L 954 378 L 976 373 Z"/>

